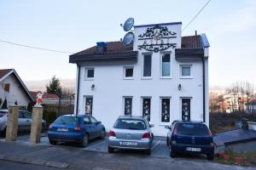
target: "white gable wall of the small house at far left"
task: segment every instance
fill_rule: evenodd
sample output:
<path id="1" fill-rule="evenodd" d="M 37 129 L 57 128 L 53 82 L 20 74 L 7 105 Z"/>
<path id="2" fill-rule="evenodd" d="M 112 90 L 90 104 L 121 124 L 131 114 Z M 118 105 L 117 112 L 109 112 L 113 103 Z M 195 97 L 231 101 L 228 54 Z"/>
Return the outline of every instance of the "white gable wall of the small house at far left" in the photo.
<path id="1" fill-rule="evenodd" d="M 27 106 L 29 103 L 29 99 L 27 94 L 24 93 L 23 88 L 20 86 L 19 82 L 15 79 L 14 75 L 10 75 L 3 79 L 0 82 L 0 98 L 3 100 L 5 97 L 7 98 L 7 105 L 15 105 L 15 101 L 17 100 L 18 105 Z M 2 84 L 9 83 L 9 93 L 4 92 Z"/>

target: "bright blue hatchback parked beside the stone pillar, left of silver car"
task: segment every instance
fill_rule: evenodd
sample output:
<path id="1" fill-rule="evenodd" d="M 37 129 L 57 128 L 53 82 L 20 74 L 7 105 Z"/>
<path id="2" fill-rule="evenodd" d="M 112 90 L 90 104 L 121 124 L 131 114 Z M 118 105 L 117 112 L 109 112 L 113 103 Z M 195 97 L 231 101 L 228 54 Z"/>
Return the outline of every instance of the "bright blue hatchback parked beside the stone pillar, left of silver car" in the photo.
<path id="1" fill-rule="evenodd" d="M 90 139 L 104 139 L 106 135 L 102 122 L 93 116 L 60 116 L 49 125 L 50 144 L 57 142 L 77 142 L 86 147 Z"/>

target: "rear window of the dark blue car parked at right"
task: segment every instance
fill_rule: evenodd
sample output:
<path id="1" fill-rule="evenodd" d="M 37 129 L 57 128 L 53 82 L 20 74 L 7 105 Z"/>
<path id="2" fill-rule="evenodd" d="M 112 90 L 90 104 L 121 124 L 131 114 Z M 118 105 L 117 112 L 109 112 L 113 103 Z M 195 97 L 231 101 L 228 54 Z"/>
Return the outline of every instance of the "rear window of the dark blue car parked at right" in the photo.
<path id="1" fill-rule="evenodd" d="M 178 123 L 177 134 L 191 136 L 209 136 L 208 127 L 204 124 Z"/>

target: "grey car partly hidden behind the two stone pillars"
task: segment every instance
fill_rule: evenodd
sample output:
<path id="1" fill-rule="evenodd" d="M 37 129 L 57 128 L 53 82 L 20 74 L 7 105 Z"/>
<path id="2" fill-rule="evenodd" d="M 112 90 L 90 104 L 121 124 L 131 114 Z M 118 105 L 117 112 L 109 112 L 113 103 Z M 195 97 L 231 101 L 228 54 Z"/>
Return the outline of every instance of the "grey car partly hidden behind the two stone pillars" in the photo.
<path id="1" fill-rule="evenodd" d="M 0 110 L 0 133 L 5 134 L 7 127 L 8 110 Z M 30 131 L 32 123 L 32 113 L 29 111 L 19 111 L 18 130 Z M 42 120 L 42 128 L 45 128 L 46 122 Z"/>

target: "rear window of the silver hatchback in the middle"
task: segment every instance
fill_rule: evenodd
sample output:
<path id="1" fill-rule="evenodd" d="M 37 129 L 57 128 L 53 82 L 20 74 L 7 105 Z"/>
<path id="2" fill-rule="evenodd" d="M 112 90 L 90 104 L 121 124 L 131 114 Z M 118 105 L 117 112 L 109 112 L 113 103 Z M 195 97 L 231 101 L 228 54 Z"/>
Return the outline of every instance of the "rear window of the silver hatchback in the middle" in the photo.
<path id="1" fill-rule="evenodd" d="M 113 127 L 123 129 L 145 130 L 146 123 L 143 120 L 138 119 L 118 119 Z"/>

